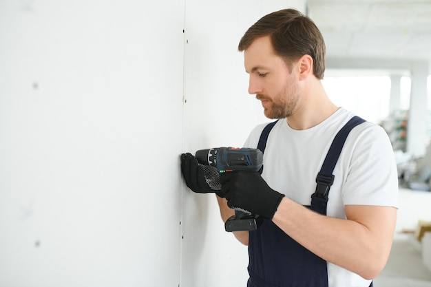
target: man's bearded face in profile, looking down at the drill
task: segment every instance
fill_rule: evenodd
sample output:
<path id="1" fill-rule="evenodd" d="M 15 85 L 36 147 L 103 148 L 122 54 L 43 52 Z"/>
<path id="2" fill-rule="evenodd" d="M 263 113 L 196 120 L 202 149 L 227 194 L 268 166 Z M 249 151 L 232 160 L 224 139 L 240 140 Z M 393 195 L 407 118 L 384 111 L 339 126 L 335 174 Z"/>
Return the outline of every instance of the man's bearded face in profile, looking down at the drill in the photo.
<path id="1" fill-rule="evenodd" d="M 267 118 L 291 116 L 299 102 L 298 73 L 288 69 L 274 54 L 269 36 L 255 39 L 244 51 L 244 65 L 249 73 L 249 94 L 262 101 Z"/>

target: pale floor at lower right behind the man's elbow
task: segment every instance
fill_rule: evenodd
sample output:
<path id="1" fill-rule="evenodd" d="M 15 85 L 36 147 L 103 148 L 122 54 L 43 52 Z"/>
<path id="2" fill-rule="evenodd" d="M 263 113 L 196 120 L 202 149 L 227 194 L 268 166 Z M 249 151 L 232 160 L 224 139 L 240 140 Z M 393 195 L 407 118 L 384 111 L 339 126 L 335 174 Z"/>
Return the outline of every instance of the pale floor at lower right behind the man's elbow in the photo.
<path id="1" fill-rule="evenodd" d="M 399 195 L 397 233 L 388 263 L 374 280 L 374 286 L 431 287 L 431 270 L 423 264 L 419 242 L 402 232 L 414 229 L 419 219 L 431 220 L 431 193 L 401 189 Z"/>

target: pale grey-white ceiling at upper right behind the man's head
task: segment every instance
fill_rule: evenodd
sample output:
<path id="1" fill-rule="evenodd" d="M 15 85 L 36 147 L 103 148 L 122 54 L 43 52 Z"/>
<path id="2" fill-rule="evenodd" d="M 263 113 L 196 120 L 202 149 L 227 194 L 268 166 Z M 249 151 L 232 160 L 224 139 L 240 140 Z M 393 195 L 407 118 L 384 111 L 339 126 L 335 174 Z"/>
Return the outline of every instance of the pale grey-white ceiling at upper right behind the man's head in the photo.
<path id="1" fill-rule="evenodd" d="M 431 61 L 430 0 L 308 0 L 307 14 L 324 36 L 328 68 Z"/>

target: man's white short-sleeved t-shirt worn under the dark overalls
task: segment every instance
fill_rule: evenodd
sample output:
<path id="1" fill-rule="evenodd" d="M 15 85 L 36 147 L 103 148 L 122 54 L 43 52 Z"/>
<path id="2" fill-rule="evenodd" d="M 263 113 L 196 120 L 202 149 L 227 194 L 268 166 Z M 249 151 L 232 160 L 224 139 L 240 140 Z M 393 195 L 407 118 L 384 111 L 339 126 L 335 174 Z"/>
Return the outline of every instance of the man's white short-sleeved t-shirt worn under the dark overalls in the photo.
<path id="1" fill-rule="evenodd" d="M 339 108 L 311 129 L 295 130 L 279 120 L 266 142 L 262 178 L 269 187 L 302 205 L 311 204 L 316 176 L 335 135 L 354 115 Z M 251 131 L 244 147 L 257 147 L 266 124 Z M 395 156 L 386 131 L 370 122 L 348 135 L 330 187 L 327 215 L 346 218 L 344 205 L 398 206 L 398 176 Z M 330 287 L 369 286 L 370 281 L 328 263 Z"/>

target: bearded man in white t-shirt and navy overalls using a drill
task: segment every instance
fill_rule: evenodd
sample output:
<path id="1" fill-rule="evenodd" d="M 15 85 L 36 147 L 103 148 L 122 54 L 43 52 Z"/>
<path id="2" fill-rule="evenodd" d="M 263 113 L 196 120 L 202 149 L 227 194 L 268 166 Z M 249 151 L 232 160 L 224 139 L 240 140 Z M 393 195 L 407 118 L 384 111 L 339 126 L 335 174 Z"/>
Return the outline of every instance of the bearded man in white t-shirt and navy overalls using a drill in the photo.
<path id="1" fill-rule="evenodd" d="M 368 122 L 350 131 L 333 171 L 326 215 L 317 213 L 309 207 L 316 175 L 335 135 L 354 116 L 335 106 L 322 86 L 322 34 L 301 12 L 286 9 L 252 25 L 238 49 L 249 93 L 262 102 L 266 117 L 280 119 L 267 138 L 262 174 L 220 175 L 224 221 L 233 215 L 231 207 L 266 219 L 256 231 L 234 233 L 249 245 L 248 286 L 372 286 L 388 259 L 397 213 L 388 136 Z M 255 127 L 244 146 L 257 147 L 264 127 Z M 182 155 L 187 185 L 211 192 L 201 169 L 190 153 Z"/>

